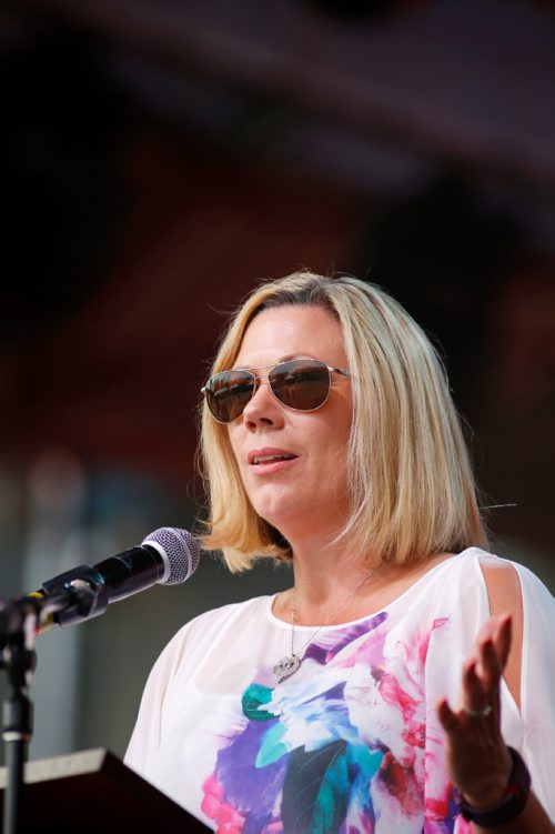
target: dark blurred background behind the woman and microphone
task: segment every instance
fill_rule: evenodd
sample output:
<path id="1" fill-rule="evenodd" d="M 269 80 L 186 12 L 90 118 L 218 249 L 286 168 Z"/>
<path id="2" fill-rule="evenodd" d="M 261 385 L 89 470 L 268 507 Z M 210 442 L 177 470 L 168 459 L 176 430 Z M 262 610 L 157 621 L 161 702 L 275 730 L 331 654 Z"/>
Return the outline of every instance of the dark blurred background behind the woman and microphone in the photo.
<path id="1" fill-rule="evenodd" d="M 194 524 L 225 314 L 300 267 L 434 334 L 492 547 L 555 587 L 553 3 L 4 0 L 0 62 L 2 596 Z M 174 631 L 287 583 L 205 555 L 41 636 L 32 757 L 122 755 Z"/>

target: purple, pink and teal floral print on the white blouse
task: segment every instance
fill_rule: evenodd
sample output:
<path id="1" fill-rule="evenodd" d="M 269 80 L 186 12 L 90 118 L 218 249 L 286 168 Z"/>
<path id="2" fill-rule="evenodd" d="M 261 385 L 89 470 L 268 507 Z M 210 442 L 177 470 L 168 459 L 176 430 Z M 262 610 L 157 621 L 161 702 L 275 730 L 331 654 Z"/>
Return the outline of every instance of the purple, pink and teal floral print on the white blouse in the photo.
<path id="1" fill-rule="evenodd" d="M 243 693 L 242 729 L 222 741 L 203 783 L 216 830 L 453 834 L 457 811 L 425 700 L 430 640 L 447 623 L 427 623 L 407 644 L 381 613 L 321 632 L 286 683 L 268 686 L 261 669 Z"/>

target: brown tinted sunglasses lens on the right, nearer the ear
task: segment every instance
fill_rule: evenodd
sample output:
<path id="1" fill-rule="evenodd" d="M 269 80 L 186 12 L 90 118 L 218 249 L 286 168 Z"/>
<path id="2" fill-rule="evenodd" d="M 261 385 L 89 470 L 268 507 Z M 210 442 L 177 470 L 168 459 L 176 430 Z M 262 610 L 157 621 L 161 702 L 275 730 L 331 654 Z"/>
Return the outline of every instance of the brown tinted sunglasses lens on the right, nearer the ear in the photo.
<path id="1" fill-rule="evenodd" d="M 297 411 L 319 409 L 330 393 L 330 372 L 316 359 L 282 362 L 268 379 L 278 400 Z"/>

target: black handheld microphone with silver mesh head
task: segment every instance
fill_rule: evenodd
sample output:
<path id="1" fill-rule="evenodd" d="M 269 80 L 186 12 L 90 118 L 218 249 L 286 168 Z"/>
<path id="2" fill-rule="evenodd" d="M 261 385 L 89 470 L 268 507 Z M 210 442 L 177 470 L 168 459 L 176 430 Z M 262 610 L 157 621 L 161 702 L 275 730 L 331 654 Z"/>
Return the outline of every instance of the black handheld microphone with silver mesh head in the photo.
<path id="1" fill-rule="evenodd" d="M 9 605 L 0 603 L 0 639 L 21 630 L 31 612 L 37 615 L 38 633 L 49 631 L 54 624 L 71 625 L 100 616 L 109 603 L 152 585 L 185 582 L 199 561 L 199 544 L 191 533 L 179 527 L 160 527 L 137 547 L 92 566 L 65 571 Z"/>

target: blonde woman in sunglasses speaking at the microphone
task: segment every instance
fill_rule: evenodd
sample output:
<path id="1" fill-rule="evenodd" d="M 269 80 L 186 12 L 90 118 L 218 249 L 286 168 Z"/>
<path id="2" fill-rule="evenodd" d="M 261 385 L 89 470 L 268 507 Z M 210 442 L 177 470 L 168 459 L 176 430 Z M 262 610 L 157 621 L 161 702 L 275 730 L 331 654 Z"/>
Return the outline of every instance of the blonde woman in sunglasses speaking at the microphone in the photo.
<path id="1" fill-rule="evenodd" d="M 204 544 L 292 561 L 294 586 L 175 635 L 127 762 L 221 832 L 552 832 L 553 599 L 480 549 L 420 328 L 295 273 L 248 299 L 203 392 Z"/>

